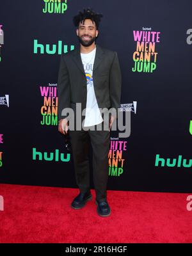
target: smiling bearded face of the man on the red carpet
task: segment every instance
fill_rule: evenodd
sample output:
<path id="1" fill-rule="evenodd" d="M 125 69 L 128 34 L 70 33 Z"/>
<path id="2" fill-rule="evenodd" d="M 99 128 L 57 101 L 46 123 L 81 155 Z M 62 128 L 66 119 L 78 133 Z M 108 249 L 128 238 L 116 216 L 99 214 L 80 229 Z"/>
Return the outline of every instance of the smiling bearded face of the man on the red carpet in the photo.
<path id="1" fill-rule="evenodd" d="M 77 36 L 79 38 L 79 42 L 83 46 L 90 46 L 95 42 L 95 38 L 98 35 L 98 30 L 95 26 L 95 22 L 90 19 L 84 20 L 84 24 L 82 22 L 79 23 L 79 28 L 76 30 Z"/>

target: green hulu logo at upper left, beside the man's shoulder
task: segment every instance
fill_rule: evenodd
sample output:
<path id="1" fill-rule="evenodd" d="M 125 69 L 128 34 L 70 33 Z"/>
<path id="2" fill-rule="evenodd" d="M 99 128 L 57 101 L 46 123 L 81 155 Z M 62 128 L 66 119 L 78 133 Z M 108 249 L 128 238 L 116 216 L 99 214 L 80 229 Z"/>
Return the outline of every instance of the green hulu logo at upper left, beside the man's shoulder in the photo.
<path id="1" fill-rule="evenodd" d="M 62 54 L 68 52 L 68 45 L 62 45 L 62 41 L 58 41 L 58 45 L 53 44 L 50 46 L 49 44 L 46 44 L 45 46 L 43 44 L 38 44 L 38 40 L 34 40 L 34 47 L 33 47 L 33 53 L 37 54 L 38 50 L 40 51 L 40 54 Z M 70 50 L 74 50 L 74 45 L 70 45 Z"/>

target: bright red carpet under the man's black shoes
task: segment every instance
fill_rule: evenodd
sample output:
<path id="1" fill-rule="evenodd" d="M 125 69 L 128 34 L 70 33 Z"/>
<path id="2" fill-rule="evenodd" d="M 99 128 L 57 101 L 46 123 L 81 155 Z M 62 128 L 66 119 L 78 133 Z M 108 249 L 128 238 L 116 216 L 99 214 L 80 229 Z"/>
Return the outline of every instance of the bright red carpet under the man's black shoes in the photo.
<path id="1" fill-rule="evenodd" d="M 0 184 L 0 243 L 191 243 L 188 194 L 108 190 L 111 216 L 93 200 L 70 207 L 78 189 Z"/>

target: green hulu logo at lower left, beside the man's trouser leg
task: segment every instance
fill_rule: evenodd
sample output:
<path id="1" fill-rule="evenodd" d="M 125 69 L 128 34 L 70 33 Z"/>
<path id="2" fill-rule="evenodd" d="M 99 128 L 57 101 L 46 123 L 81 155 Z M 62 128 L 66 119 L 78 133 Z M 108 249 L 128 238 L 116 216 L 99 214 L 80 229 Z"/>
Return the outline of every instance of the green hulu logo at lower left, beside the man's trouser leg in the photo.
<path id="1" fill-rule="evenodd" d="M 56 162 L 58 162 L 59 160 L 61 160 L 62 162 L 68 162 L 68 161 L 70 161 L 70 154 L 67 153 L 67 158 L 65 158 L 63 153 L 59 154 L 58 149 L 56 149 L 54 153 L 53 152 L 50 152 L 50 153 L 44 152 L 44 153 L 42 153 L 42 152 L 36 151 L 36 148 L 33 148 L 33 160 L 42 161 L 43 159 L 45 161 L 56 161 Z"/>

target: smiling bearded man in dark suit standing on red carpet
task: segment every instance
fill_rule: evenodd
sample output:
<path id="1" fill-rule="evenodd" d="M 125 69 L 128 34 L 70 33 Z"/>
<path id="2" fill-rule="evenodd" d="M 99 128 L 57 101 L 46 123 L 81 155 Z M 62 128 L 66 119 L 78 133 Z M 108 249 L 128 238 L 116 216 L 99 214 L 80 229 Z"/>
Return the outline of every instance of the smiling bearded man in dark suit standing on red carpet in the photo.
<path id="1" fill-rule="evenodd" d="M 111 209 L 107 201 L 109 133 L 116 116 L 111 114 L 108 121 L 103 119 L 100 109 L 120 108 L 122 77 L 116 52 L 96 44 L 99 35 L 101 14 L 88 8 L 73 19 L 77 27 L 79 47 L 61 56 L 58 75 L 58 119 L 59 131 L 69 131 L 79 195 L 72 201 L 73 209 L 81 209 L 90 193 L 89 143 L 93 149 L 93 182 L 99 216 L 109 216 Z M 70 116 L 62 115 L 63 109 L 72 108 L 75 120 L 77 104 L 85 109 L 83 129 L 70 129 Z M 103 126 L 108 125 L 108 129 Z M 98 125 L 102 129 L 97 131 Z M 76 125 L 75 125 L 76 127 Z M 96 130 L 96 131 L 95 131 Z"/>

